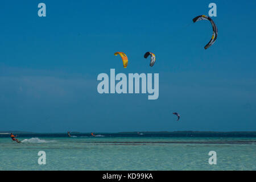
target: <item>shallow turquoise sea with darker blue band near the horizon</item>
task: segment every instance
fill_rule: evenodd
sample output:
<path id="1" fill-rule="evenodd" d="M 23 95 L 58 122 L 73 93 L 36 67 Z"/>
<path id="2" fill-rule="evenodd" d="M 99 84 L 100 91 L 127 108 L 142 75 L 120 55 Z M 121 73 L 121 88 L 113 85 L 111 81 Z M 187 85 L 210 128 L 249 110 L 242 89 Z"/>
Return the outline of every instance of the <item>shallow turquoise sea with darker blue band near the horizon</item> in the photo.
<path id="1" fill-rule="evenodd" d="M 205 136 L 19 134 L 16 143 L 0 135 L 0 170 L 256 170 L 256 137 Z"/>

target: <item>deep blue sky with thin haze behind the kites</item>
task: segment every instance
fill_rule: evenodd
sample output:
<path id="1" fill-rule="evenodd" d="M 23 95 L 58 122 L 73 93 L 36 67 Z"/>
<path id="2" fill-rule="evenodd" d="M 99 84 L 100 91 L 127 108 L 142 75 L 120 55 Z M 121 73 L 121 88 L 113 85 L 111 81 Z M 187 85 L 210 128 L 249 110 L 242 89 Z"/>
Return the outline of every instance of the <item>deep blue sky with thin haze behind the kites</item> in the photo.
<path id="1" fill-rule="evenodd" d="M 205 50 L 212 27 L 192 19 L 211 2 Z M 255 1 L 1 1 L 0 131 L 255 131 L 255 14 Z M 99 94 L 110 68 L 159 73 L 158 100 Z"/>

